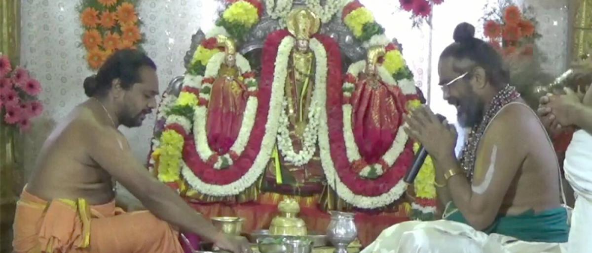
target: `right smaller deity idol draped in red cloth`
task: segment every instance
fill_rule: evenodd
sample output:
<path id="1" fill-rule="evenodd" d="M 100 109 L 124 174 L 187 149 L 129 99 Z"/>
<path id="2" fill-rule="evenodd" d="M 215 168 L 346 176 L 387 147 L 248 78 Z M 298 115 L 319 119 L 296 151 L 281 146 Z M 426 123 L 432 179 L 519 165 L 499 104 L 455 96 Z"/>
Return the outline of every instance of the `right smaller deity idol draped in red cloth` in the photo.
<path id="1" fill-rule="evenodd" d="M 369 48 L 365 70 L 351 97 L 353 137 L 360 155 L 369 164 L 379 163 L 391 147 L 403 124 L 405 110 L 406 98 L 401 89 L 387 83 L 382 78 L 385 75 L 378 73 L 378 58 L 384 54 L 384 47 Z"/>

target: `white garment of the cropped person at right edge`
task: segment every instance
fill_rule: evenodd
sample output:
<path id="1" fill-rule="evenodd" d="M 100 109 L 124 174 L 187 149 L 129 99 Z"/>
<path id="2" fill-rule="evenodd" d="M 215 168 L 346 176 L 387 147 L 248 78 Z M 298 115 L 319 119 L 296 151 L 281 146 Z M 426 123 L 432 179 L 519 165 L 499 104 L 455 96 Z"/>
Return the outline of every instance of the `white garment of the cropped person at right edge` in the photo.
<path id="1" fill-rule="evenodd" d="M 570 253 L 592 252 L 592 135 L 574 132 L 565 151 L 565 178 L 576 193 L 571 216 Z"/>

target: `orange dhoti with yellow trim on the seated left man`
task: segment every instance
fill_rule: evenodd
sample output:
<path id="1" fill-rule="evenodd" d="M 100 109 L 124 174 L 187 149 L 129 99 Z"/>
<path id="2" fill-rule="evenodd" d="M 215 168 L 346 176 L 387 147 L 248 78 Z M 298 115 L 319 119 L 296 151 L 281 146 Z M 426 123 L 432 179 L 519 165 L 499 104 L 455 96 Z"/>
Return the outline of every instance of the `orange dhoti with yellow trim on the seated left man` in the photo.
<path id="1" fill-rule="evenodd" d="M 23 190 L 14 221 L 15 252 L 183 252 L 178 232 L 148 211 L 126 213 L 115 201 L 47 201 Z"/>

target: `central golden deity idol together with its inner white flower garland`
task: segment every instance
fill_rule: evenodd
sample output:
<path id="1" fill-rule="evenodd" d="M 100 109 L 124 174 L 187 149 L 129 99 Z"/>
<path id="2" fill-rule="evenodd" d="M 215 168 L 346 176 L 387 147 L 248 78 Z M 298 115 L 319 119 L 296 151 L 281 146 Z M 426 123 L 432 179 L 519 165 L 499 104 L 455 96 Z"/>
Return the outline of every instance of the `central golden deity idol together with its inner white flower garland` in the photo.
<path id="1" fill-rule="evenodd" d="M 281 99 L 278 136 L 263 189 L 311 196 L 323 190 L 317 135 L 320 112 L 326 109 L 327 73 L 329 65 L 340 66 L 341 60 L 326 52 L 326 44 L 334 41 L 316 35 L 320 20 L 310 10 L 292 11 L 287 26 L 288 31 L 269 35 L 264 48 L 264 51 L 278 48 L 275 65 L 264 63 L 262 72 L 274 68 L 274 86 L 281 87 L 283 95 L 278 96 Z"/>

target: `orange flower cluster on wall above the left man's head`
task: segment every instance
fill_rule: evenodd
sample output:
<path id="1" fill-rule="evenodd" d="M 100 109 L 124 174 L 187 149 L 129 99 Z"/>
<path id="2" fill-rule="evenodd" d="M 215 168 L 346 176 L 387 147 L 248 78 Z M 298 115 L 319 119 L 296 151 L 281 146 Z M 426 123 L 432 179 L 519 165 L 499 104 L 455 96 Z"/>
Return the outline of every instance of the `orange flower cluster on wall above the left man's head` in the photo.
<path id="1" fill-rule="evenodd" d="M 99 69 L 112 53 L 126 48 L 137 48 L 144 41 L 141 21 L 136 11 L 137 0 L 82 0 L 78 9 L 85 28 L 82 45 L 86 48 L 86 62 L 91 69 Z"/>

